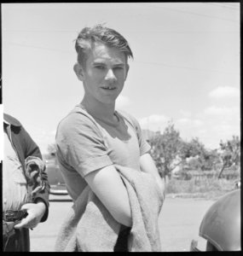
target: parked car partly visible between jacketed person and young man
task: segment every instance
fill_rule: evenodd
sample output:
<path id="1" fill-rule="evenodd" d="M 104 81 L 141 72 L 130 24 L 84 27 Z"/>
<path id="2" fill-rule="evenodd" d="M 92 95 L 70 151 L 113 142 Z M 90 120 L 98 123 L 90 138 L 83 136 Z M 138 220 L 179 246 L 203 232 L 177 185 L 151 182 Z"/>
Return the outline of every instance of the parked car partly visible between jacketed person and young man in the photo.
<path id="1" fill-rule="evenodd" d="M 60 168 L 55 158 L 55 154 L 49 157 L 44 157 L 44 160 L 46 164 L 46 172 L 48 175 L 50 185 L 50 194 L 68 195 L 65 182 L 63 180 Z"/>

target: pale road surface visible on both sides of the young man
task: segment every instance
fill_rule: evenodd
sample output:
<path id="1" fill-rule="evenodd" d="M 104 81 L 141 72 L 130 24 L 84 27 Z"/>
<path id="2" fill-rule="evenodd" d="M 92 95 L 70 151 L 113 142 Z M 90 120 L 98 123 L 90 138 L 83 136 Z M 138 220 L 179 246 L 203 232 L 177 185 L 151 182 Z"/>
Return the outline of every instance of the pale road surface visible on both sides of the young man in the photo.
<path id="1" fill-rule="evenodd" d="M 50 195 L 50 200 L 68 196 Z M 163 252 L 187 252 L 192 239 L 198 237 L 200 222 L 214 201 L 166 198 L 159 215 L 159 232 Z M 30 230 L 32 252 L 54 252 L 55 239 L 71 201 L 50 201 L 49 218 Z M 204 246 L 204 245 L 203 245 Z"/>

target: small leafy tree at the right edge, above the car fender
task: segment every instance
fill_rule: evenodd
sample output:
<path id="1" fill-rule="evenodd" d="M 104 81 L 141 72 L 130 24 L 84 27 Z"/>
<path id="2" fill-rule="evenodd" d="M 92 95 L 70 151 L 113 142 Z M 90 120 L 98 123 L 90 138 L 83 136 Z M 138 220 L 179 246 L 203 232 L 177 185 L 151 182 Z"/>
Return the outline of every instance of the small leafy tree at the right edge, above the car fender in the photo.
<path id="1" fill-rule="evenodd" d="M 233 136 L 231 140 L 220 142 L 221 159 L 223 161 L 223 166 L 219 172 L 218 178 L 221 178 L 223 170 L 229 168 L 230 166 L 239 166 L 240 165 L 240 139 L 238 136 Z"/>

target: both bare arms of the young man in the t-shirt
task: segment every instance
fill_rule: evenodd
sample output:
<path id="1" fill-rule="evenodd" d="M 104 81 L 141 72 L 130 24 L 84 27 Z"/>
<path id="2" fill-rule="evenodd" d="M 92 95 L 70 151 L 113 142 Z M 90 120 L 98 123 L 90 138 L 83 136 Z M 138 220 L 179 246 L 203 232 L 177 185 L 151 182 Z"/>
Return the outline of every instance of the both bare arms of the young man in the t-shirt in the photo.
<path id="1" fill-rule="evenodd" d="M 148 172 L 153 175 L 165 198 L 165 183 L 159 176 L 157 167 L 150 154 L 143 154 L 141 156 L 140 166 L 142 172 Z M 120 224 L 130 227 L 132 225 L 130 201 L 127 189 L 116 168 L 113 165 L 106 166 L 95 172 L 90 172 L 84 178 L 90 185 L 90 189 L 101 200 L 103 205 L 107 207 L 113 218 Z"/>

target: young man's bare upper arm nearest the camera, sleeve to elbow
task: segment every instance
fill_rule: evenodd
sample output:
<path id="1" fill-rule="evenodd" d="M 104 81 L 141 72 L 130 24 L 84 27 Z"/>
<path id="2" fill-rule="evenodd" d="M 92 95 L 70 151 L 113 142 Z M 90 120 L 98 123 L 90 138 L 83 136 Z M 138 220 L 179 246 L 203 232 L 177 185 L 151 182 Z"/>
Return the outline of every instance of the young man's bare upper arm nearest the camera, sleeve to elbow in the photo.
<path id="1" fill-rule="evenodd" d="M 84 177 L 90 189 L 120 224 L 132 224 L 130 201 L 124 183 L 114 166 L 106 166 Z"/>

